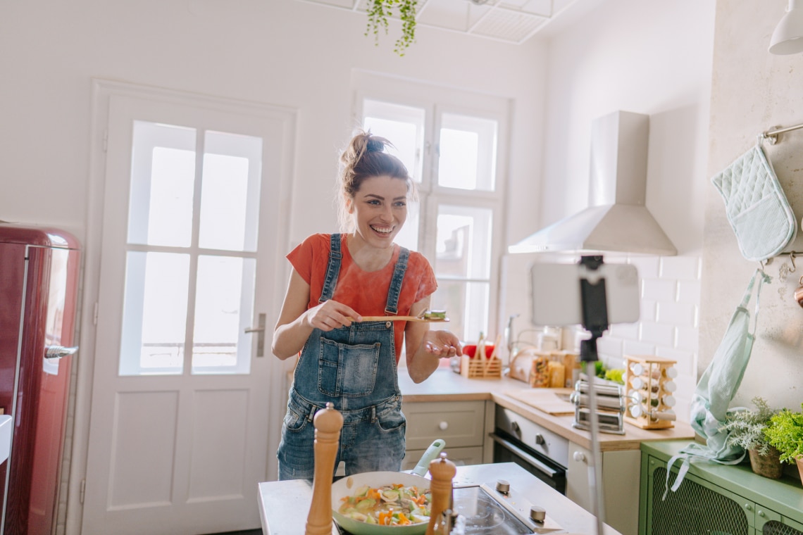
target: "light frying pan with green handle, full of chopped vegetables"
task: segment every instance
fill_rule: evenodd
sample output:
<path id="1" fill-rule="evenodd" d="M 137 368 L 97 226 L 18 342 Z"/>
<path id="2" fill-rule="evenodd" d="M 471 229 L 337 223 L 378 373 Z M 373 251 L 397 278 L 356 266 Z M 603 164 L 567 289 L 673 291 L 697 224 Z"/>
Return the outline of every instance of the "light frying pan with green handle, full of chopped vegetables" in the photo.
<path id="1" fill-rule="evenodd" d="M 445 443 L 435 440 L 412 472 L 363 472 L 332 484 L 332 517 L 353 535 L 424 535 L 430 523 L 430 461 Z"/>

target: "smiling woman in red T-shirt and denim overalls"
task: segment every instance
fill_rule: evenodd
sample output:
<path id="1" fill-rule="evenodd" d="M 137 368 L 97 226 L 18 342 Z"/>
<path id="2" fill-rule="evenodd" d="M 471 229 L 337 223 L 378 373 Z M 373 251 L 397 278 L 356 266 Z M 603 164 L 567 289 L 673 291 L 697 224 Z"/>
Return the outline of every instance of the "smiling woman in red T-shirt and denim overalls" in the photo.
<path id="1" fill-rule="evenodd" d="M 312 479 L 312 418 L 327 402 L 344 417 L 336 463 L 346 474 L 398 471 L 405 418 L 397 363 L 405 342 L 410 378 L 429 377 L 460 342 L 426 322 L 362 321 L 429 309 L 434 273 L 420 253 L 393 243 L 407 217 L 412 181 L 389 141 L 361 132 L 340 156 L 343 234 L 314 234 L 287 255 L 293 265 L 273 353 L 300 352 L 284 417 L 279 479 Z"/>

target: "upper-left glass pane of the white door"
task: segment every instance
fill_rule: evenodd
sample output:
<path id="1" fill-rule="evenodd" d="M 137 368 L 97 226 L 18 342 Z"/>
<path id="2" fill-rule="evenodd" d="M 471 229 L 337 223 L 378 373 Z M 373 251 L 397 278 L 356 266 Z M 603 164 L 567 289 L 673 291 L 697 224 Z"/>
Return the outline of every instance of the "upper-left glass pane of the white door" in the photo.
<path id="1" fill-rule="evenodd" d="M 133 144 L 128 243 L 189 246 L 194 128 L 135 121 Z"/>

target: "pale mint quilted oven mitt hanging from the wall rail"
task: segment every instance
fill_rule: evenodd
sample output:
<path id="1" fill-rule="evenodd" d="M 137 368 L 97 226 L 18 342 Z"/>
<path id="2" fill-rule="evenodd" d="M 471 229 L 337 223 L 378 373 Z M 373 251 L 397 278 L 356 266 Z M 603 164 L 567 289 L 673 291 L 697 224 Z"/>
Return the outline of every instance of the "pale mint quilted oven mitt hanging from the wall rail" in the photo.
<path id="1" fill-rule="evenodd" d="M 745 152 L 711 179 L 725 201 L 742 256 L 764 261 L 797 236 L 797 219 L 761 145 Z"/>

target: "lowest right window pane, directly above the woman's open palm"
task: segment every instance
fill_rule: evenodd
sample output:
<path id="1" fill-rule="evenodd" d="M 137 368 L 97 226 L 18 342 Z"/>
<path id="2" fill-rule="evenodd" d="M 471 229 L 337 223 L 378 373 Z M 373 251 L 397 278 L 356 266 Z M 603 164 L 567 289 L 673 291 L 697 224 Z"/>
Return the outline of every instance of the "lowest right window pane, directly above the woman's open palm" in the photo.
<path id="1" fill-rule="evenodd" d="M 433 310 L 446 310 L 449 323 L 442 328 L 456 334 L 463 342 L 477 342 L 479 333 L 488 334 L 490 282 L 438 281 L 432 296 Z M 437 323 L 430 324 L 438 327 Z"/>

